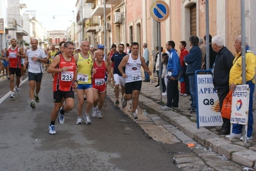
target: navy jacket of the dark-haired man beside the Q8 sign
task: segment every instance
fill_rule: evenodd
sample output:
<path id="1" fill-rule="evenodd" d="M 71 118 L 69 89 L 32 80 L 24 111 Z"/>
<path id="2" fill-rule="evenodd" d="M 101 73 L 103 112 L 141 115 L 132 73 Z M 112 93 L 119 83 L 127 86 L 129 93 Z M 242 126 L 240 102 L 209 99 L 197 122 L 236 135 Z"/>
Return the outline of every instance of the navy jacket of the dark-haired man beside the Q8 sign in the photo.
<path id="1" fill-rule="evenodd" d="M 192 75 L 196 70 L 201 69 L 201 49 L 198 45 L 191 47 L 189 54 L 184 57 L 187 63 L 186 74 Z"/>

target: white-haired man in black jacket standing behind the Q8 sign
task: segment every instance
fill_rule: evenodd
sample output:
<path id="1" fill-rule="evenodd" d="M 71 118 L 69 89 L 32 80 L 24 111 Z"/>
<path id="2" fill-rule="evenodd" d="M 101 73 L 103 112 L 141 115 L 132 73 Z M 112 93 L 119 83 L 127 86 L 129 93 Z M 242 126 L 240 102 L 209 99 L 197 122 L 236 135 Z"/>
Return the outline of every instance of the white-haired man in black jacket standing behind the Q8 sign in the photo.
<path id="1" fill-rule="evenodd" d="M 221 111 L 223 101 L 229 92 L 229 72 L 233 65 L 234 56 L 226 49 L 223 38 L 220 36 L 212 38 L 212 49 L 218 53 L 212 66 L 212 78 L 219 97 L 219 110 Z M 216 129 L 216 131 L 218 134 L 229 134 L 230 119 L 222 117 L 222 120 L 221 128 Z"/>

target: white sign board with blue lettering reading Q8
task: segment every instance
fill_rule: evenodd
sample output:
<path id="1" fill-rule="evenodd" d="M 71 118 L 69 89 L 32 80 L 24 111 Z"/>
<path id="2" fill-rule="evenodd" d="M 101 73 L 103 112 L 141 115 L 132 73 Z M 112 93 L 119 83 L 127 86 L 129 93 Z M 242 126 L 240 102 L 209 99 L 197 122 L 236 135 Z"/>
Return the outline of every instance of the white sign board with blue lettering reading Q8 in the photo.
<path id="1" fill-rule="evenodd" d="M 219 110 L 219 98 L 214 89 L 210 74 L 197 74 L 197 121 L 201 126 L 222 126 L 223 120 Z"/>

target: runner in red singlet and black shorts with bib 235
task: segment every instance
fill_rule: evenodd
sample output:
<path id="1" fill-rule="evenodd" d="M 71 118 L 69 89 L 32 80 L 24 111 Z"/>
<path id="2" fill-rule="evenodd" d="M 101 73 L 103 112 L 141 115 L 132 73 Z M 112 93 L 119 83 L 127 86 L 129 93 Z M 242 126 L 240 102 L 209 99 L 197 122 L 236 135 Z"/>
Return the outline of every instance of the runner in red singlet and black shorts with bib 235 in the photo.
<path id="1" fill-rule="evenodd" d="M 58 122 L 64 124 L 64 114 L 73 109 L 74 106 L 74 88 L 78 86 L 74 80 L 76 76 L 76 62 L 73 57 L 74 44 L 73 42 L 65 42 L 64 53 L 55 56 L 53 63 L 47 69 L 48 73 L 55 74 L 53 81 L 53 101 L 55 106 L 51 111 L 51 124 L 49 124 L 49 134 L 56 134 L 55 120 L 58 117 Z M 62 106 L 62 98 L 65 99 L 65 106 Z M 59 116 L 58 116 L 59 115 Z"/>

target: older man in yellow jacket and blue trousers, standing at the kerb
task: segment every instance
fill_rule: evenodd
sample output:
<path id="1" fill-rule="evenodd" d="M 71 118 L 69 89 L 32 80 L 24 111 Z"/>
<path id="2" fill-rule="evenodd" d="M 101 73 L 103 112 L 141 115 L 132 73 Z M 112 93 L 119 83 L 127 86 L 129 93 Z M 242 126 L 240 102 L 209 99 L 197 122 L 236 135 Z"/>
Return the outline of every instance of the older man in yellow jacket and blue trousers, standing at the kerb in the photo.
<path id="1" fill-rule="evenodd" d="M 235 51 L 237 51 L 237 55 L 233 61 L 233 67 L 230 70 L 229 75 L 229 88 L 232 92 L 235 90 L 236 85 L 242 84 L 242 45 L 241 45 L 241 35 L 235 38 Z M 246 38 L 246 44 L 247 38 Z M 252 131 L 253 131 L 253 114 L 252 114 L 252 107 L 253 107 L 253 92 L 254 92 L 254 77 L 255 77 L 255 63 L 256 63 L 256 56 L 252 53 L 252 51 L 246 51 L 245 54 L 246 58 L 246 84 L 249 85 L 250 88 L 250 99 L 249 99 L 249 114 L 248 114 L 248 129 L 247 129 L 247 140 L 252 140 Z M 234 124 L 233 125 L 233 133 L 231 134 L 232 138 L 240 138 L 243 140 L 242 136 L 242 125 Z M 226 135 L 226 138 L 230 138 L 230 134 Z"/>

